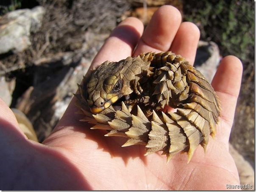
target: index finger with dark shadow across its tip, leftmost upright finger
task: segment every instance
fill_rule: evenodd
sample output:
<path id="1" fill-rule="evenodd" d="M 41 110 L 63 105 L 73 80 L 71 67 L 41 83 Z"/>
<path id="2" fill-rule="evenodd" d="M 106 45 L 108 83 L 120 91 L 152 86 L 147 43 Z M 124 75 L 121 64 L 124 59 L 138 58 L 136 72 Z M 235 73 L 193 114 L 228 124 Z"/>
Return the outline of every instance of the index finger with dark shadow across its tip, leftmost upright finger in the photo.
<path id="1" fill-rule="evenodd" d="M 110 34 L 92 62 L 92 66 L 99 66 L 106 60 L 119 61 L 131 56 L 144 26 L 139 19 L 128 17 L 122 21 Z"/>

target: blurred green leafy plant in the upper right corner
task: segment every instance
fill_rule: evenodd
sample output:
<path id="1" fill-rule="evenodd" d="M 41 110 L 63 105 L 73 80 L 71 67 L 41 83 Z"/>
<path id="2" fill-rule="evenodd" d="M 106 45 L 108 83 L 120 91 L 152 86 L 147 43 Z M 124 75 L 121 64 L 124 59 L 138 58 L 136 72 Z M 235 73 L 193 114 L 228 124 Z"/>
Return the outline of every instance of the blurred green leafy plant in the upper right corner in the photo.
<path id="1" fill-rule="evenodd" d="M 250 0 L 189 1 L 184 20 L 198 25 L 203 40 L 215 41 L 223 55 L 254 60 L 254 2 Z"/>

